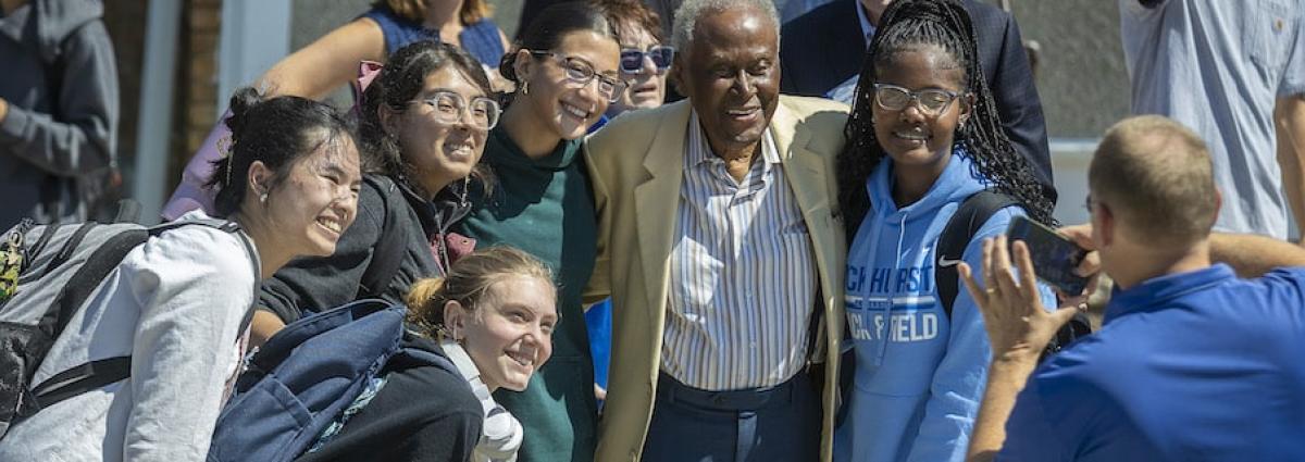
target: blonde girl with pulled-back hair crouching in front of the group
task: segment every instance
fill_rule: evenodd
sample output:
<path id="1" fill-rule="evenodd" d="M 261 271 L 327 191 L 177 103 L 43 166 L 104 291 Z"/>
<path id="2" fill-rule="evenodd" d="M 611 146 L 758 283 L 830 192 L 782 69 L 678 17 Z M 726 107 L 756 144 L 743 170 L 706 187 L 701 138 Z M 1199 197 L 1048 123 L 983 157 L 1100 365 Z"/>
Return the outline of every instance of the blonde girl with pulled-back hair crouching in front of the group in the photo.
<path id="1" fill-rule="evenodd" d="M 474 252 L 445 277 L 418 281 L 403 342 L 448 356 L 461 376 L 394 365 L 367 407 L 303 459 L 514 461 L 525 432 L 491 393 L 525 390 L 552 355 L 556 304 L 548 269 L 510 247 Z M 462 381 L 479 403 L 452 390 L 465 390 Z"/>

